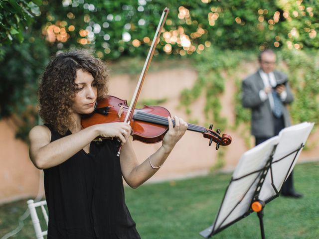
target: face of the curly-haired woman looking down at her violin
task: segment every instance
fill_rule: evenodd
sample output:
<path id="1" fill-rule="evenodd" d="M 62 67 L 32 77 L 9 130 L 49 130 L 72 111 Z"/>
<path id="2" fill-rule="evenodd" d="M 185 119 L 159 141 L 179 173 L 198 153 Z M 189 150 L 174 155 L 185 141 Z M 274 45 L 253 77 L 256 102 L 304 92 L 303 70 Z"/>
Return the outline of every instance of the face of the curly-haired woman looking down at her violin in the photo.
<path id="1" fill-rule="evenodd" d="M 76 93 L 72 106 L 73 112 L 77 114 L 92 113 L 98 94 L 93 76 L 82 69 L 78 69 L 74 83 L 76 84 Z"/>

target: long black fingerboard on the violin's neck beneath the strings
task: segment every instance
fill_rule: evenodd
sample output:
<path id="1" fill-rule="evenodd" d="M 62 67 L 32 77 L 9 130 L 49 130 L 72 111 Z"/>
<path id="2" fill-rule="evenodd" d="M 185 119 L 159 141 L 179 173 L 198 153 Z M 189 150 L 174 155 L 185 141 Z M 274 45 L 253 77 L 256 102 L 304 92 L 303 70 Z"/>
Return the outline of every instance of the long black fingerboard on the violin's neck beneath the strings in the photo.
<path id="1" fill-rule="evenodd" d="M 133 119 L 168 126 L 168 119 L 166 117 L 157 116 L 157 115 L 153 115 L 153 114 L 146 113 L 146 112 L 135 111 Z M 173 126 L 175 126 L 174 119 L 172 119 L 172 123 L 173 123 Z M 191 124 L 191 123 L 187 123 L 187 125 L 188 125 L 187 130 L 200 132 L 200 133 L 206 132 L 206 128 L 204 128 L 204 127 L 201 127 L 201 126 L 198 126 L 195 124 Z"/>

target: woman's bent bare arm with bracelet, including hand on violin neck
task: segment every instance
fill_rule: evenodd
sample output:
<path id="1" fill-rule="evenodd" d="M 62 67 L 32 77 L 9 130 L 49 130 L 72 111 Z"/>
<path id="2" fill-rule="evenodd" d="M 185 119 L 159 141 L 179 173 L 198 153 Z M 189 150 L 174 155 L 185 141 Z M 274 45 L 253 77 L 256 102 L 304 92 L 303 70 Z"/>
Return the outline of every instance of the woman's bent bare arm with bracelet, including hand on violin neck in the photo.
<path id="1" fill-rule="evenodd" d="M 177 141 L 184 135 L 187 123 L 176 116 L 174 120 L 175 126 L 168 117 L 168 131 L 163 138 L 161 147 L 141 164 L 138 162 L 132 147 L 132 137 L 123 145 L 120 156 L 122 175 L 132 188 L 139 187 L 159 170 L 159 166 L 165 162 Z"/>

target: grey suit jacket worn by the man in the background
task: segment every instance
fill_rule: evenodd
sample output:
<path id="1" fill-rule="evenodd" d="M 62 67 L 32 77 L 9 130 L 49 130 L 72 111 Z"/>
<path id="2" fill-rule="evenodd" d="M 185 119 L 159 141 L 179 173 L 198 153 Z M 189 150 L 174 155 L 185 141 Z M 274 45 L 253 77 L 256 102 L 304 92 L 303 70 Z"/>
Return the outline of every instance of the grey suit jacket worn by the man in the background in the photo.
<path id="1" fill-rule="evenodd" d="M 282 81 L 287 76 L 279 71 L 274 71 L 276 81 Z M 263 79 L 259 71 L 248 76 L 242 82 L 242 104 L 245 108 L 250 108 L 252 111 L 251 116 L 251 133 L 256 137 L 272 137 L 275 136 L 275 127 L 273 120 L 273 113 L 270 107 L 269 100 L 262 101 L 259 97 L 259 91 L 265 88 Z M 287 98 L 284 103 L 284 122 L 285 127 L 290 126 L 290 117 L 287 109 L 287 104 L 294 101 L 293 94 L 286 83 Z"/>

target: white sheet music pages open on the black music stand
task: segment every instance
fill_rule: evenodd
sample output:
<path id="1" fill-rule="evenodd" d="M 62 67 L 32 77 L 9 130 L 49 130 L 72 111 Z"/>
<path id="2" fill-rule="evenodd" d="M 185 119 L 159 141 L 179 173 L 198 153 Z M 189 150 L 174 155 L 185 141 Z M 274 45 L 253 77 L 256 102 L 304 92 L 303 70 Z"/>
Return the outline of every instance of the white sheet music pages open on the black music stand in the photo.
<path id="1" fill-rule="evenodd" d="M 277 147 L 273 155 L 272 173 L 274 184 L 278 191 L 280 191 L 282 184 L 286 180 L 288 171 L 289 173 L 292 171 L 302 148 L 299 152 L 295 152 L 278 162 L 275 161 L 305 144 L 313 126 L 314 123 L 304 122 L 284 128 L 278 136 L 268 139 L 242 155 L 233 173 L 233 181 L 229 184 L 219 214 L 216 216 L 212 226 L 214 231 L 227 226 L 248 212 L 261 176 L 258 170 L 261 170 L 266 165 L 275 145 Z M 290 166 L 291 169 L 289 170 Z M 259 199 L 266 201 L 275 195 L 276 192 L 271 185 L 269 170 L 261 188 Z M 204 237 L 206 237 L 208 235 L 207 232 L 211 232 L 211 230 L 212 228 L 210 227 L 201 232 L 201 235 L 205 235 Z"/>

